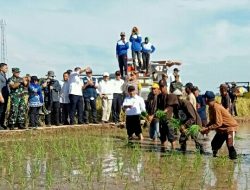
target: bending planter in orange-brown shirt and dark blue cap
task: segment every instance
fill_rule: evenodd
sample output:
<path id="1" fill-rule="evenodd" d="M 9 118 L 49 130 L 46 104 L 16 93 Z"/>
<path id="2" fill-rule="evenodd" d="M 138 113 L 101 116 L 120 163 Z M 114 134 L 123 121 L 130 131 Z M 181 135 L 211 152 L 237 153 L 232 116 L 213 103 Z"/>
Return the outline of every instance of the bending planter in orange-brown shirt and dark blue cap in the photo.
<path id="1" fill-rule="evenodd" d="M 216 131 L 211 142 L 213 156 L 217 156 L 218 150 L 226 141 L 229 158 L 237 159 L 237 152 L 234 148 L 235 132 L 239 127 L 237 121 L 221 104 L 215 101 L 215 95 L 212 91 L 206 91 L 204 96 L 209 106 L 209 123 L 206 128 L 201 130 L 201 133 L 208 134 L 211 130 Z"/>

